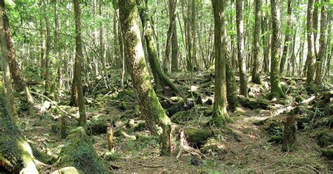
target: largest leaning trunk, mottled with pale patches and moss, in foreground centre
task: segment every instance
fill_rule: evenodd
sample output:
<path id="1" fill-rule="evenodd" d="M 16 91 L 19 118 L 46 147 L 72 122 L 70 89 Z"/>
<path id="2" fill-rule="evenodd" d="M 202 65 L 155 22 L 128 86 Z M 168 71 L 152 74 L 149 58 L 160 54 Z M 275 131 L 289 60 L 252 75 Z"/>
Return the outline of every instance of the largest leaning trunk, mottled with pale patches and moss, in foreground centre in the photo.
<path id="1" fill-rule="evenodd" d="M 166 116 L 157 95 L 150 83 L 150 76 L 145 64 L 145 54 L 141 43 L 141 34 L 138 24 L 138 9 L 135 0 L 119 2 L 120 21 L 124 34 L 124 45 L 126 55 L 126 65 L 133 80 L 133 86 L 138 92 L 138 103 L 143 118 L 148 124 L 148 128 L 154 134 L 158 134 L 157 124 L 161 125 L 162 134 L 162 154 L 171 152 L 171 121 Z"/>

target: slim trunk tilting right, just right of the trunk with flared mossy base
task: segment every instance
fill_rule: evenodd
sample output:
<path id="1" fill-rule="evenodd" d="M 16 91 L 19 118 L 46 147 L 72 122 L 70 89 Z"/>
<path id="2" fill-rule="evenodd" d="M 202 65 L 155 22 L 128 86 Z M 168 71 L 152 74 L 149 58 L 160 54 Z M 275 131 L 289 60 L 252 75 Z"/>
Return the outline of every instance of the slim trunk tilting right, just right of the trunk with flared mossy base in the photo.
<path id="1" fill-rule="evenodd" d="M 288 0 L 288 7 L 287 7 L 287 29 L 285 34 L 285 44 L 283 46 L 282 51 L 282 58 L 280 62 L 280 74 L 282 75 L 285 71 L 285 64 L 287 61 L 287 53 L 289 48 L 289 42 L 290 42 L 290 22 L 292 21 L 292 0 Z"/>

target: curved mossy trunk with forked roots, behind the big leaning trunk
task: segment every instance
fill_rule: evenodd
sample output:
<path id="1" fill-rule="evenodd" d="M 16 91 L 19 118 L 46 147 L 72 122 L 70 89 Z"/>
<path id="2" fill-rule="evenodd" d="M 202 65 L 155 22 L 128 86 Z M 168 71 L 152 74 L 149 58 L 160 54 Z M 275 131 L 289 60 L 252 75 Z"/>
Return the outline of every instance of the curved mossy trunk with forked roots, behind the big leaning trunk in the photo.
<path id="1" fill-rule="evenodd" d="M 143 34 L 147 45 L 148 61 L 150 63 L 150 68 L 152 69 L 152 76 L 154 76 L 155 79 L 156 90 L 162 91 L 164 85 L 166 85 L 169 86 L 172 91 L 178 93 L 178 88 L 174 85 L 174 83 L 172 83 L 169 77 L 164 74 L 161 66 L 159 65 L 157 49 L 153 38 L 152 25 L 148 16 L 147 6 L 143 0 L 137 0 L 136 3 L 138 4 L 138 11 L 143 24 Z"/>

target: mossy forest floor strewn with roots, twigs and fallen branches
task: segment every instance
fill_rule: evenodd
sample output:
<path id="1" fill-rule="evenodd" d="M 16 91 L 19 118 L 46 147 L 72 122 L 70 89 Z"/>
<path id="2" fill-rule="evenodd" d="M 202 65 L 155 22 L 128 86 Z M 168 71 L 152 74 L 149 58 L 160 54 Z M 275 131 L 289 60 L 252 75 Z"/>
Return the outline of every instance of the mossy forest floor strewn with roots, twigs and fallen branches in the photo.
<path id="1" fill-rule="evenodd" d="M 119 73 L 119 72 L 115 72 Z M 189 74 L 171 74 L 171 79 L 181 89 L 180 96 L 186 102 L 178 110 L 177 116 L 170 116 L 175 123 L 174 145 L 172 156 L 159 156 L 159 140 L 150 135 L 145 127 L 131 127 L 129 122 L 141 120 L 138 116 L 136 95 L 131 88 L 131 81 L 125 81 L 125 90 L 121 90 L 120 79 L 110 79 L 115 88 L 105 88 L 103 78 L 91 83 L 86 98 L 88 130 L 96 152 L 105 159 L 114 173 L 332 173 L 333 160 L 323 156 L 320 147 L 322 133 L 333 138 L 331 123 L 325 122 L 315 126 L 313 119 L 301 123 L 297 131 L 296 149 L 282 152 L 280 137 L 283 133 L 283 121 L 287 112 L 296 105 L 295 98 L 311 98 L 305 89 L 303 79 L 282 79 L 282 88 L 287 92 L 285 100 L 266 100 L 269 93 L 268 77 L 262 76 L 263 83 L 249 83 L 249 95 L 254 101 L 261 100 L 268 104 L 266 109 L 241 107 L 229 112 L 233 121 L 226 124 L 221 134 L 209 138 L 216 140 L 216 145 L 203 149 L 207 141 L 193 144 L 192 147 L 202 149 L 202 159 L 192 154 L 183 153 L 178 159 L 179 133 L 183 128 L 206 128 L 204 125 L 211 116 L 209 113 L 214 99 L 214 75 L 211 72 L 196 73 L 190 85 Z M 115 75 L 117 76 L 117 75 Z M 120 76 L 120 75 L 119 75 Z M 117 87 L 118 86 L 118 87 Z M 39 91 L 42 86 L 30 86 L 32 91 Z M 332 91 L 332 86 L 326 87 Z M 167 90 L 166 90 L 167 91 Z M 66 112 L 78 117 L 77 107 L 69 107 L 69 92 L 64 91 L 58 97 L 58 105 Z M 166 98 L 171 93 L 164 92 L 160 98 L 162 106 L 168 110 L 170 104 Z M 59 116 L 63 114 L 51 103 L 34 96 L 40 103 L 34 113 L 24 105 L 20 106 L 22 115 L 19 123 L 22 133 L 30 143 L 41 151 L 59 154 L 65 140 L 60 138 Z M 332 98 L 331 98 L 332 99 Z M 193 105 L 193 107 L 188 107 Z M 329 106 L 328 106 L 329 105 Z M 332 109 L 332 100 L 327 103 Z M 36 112 L 38 110 L 38 112 Z M 319 119 L 330 119 L 320 109 L 310 109 Z M 37 114 L 36 114 L 37 113 Z M 303 115 L 307 116 L 308 113 Z M 174 114 L 173 114 L 174 115 Z M 312 121 L 312 122 L 311 122 Z M 316 122 L 315 121 L 315 122 Z M 77 125 L 75 118 L 67 120 L 68 130 Z M 112 125 L 115 130 L 115 153 L 107 150 L 105 130 Z M 332 143 L 332 142 L 330 142 Z M 189 144 L 191 142 L 189 140 Z M 327 148 L 332 145 L 327 145 Z M 332 157 L 332 156 L 331 156 Z M 42 173 L 50 173 L 58 168 L 42 167 Z"/>

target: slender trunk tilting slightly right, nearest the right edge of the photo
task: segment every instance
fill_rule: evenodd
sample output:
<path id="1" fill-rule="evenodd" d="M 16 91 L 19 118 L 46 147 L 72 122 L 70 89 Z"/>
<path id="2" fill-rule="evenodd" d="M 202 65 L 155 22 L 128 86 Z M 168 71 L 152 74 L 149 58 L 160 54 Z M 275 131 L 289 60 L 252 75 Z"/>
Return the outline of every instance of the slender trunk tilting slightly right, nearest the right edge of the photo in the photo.
<path id="1" fill-rule="evenodd" d="M 326 52 L 326 3 L 327 0 L 322 0 L 322 8 L 320 11 L 320 39 L 319 39 L 319 53 L 318 56 L 316 57 L 316 62 L 315 62 L 315 83 L 321 83 L 321 78 L 322 78 L 322 61 L 324 60 L 325 57 L 325 52 Z"/>

